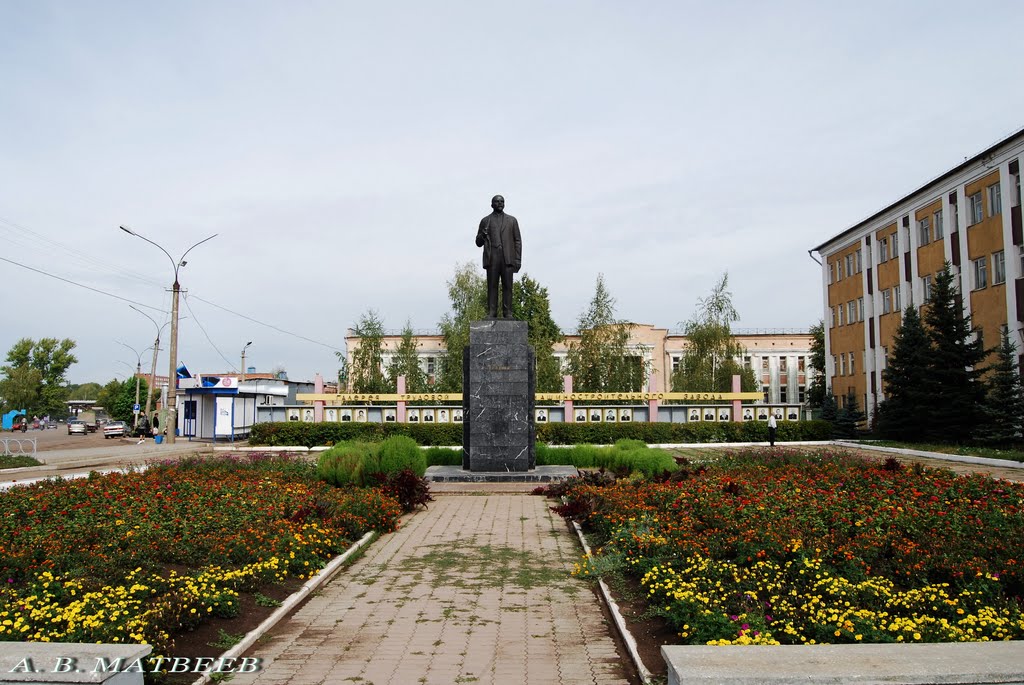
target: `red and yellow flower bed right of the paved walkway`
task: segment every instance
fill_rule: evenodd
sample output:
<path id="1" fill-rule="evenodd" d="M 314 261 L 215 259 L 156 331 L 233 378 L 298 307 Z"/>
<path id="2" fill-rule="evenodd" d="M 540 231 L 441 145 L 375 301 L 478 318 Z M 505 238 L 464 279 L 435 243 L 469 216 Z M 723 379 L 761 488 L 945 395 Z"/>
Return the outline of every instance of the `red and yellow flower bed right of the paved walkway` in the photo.
<path id="1" fill-rule="evenodd" d="M 735 453 L 558 511 L 640 580 L 682 644 L 1024 638 L 1024 485 L 834 449 Z"/>

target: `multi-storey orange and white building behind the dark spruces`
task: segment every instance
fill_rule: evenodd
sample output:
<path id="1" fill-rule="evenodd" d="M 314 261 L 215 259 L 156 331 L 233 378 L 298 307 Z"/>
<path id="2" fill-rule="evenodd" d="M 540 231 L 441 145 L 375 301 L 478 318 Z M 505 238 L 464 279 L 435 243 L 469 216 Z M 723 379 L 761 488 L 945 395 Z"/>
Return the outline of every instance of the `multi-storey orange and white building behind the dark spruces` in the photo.
<path id="1" fill-rule="evenodd" d="M 952 265 L 986 347 L 1024 335 L 1020 160 L 1024 130 L 814 248 L 822 258 L 826 383 L 873 412 L 902 311 L 921 307 Z"/>

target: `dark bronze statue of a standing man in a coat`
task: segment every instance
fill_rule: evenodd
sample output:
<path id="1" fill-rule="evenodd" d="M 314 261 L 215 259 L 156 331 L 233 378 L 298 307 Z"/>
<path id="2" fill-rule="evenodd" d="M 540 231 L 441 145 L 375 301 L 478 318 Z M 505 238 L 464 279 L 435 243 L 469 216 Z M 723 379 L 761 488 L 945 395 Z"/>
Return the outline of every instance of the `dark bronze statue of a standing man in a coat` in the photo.
<path id="1" fill-rule="evenodd" d="M 480 220 L 476 246 L 483 248 L 483 268 L 487 271 L 487 316 L 498 317 L 498 282 L 502 284 L 502 318 L 512 318 L 512 274 L 522 266 L 522 238 L 519 222 L 505 213 L 505 198 L 490 200 L 494 210 Z"/>

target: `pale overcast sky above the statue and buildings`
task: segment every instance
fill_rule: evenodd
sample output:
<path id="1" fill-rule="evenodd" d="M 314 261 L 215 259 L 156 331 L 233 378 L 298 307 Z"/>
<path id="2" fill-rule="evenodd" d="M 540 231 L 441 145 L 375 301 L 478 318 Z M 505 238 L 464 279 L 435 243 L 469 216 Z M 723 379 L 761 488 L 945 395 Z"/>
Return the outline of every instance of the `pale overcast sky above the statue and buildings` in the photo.
<path id="1" fill-rule="evenodd" d="M 806 329 L 810 248 L 1024 125 L 1022 26 L 1017 1 L 0 0 L 0 257 L 165 320 L 171 262 L 118 225 L 175 257 L 218 233 L 181 269 L 179 358 L 252 340 L 247 366 L 331 378 L 370 308 L 436 327 L 502 194 L 565 329 L 599 272 L 675 328 L 724 271 L 737 327 Z M 116 341 L 153 343 L 124 301 L 0 284 L 0 355 L 69 337 L 70 380 L 102 383 L 135 362 Z"/>

